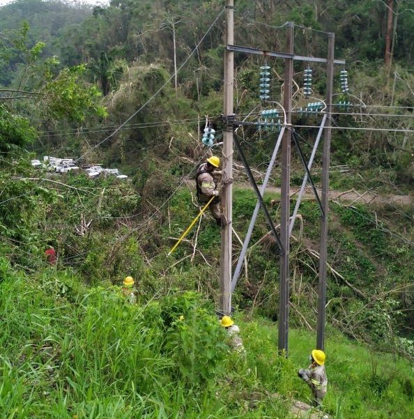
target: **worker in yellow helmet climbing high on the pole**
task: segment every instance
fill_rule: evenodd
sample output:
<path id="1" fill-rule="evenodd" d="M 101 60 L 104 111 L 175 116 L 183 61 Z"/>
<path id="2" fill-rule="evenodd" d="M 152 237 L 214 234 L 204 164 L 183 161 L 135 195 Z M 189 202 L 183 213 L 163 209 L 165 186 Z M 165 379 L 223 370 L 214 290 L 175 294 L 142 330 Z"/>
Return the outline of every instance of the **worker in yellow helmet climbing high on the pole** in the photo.
<path id="1" fill-rule="evenodd" d="M 217 225 L 221 226 L 222 212 L 220 211 L 220 197 L 215 179 L 215 175 L 220 175 L 220 171 L 216 170 L 218 167 L 220 167 L 220 158 L 215 155 L 208 158 L 207 162 L 203 163 L 197 171 L 196 185 L 197 198 L 202 203 L 206 204 L 211 197 L 215 197 L 208 208 L 210 208 L 210 213 L 213 215 Z"/>

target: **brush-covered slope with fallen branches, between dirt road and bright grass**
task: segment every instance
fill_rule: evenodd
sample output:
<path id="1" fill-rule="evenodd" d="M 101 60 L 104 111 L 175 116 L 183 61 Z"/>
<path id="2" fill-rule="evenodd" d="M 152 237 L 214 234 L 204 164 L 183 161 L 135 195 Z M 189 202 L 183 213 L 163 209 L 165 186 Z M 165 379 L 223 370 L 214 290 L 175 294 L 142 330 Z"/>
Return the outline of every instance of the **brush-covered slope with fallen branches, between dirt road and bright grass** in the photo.
<path id="1" fill-rule="evenodd" d="M 119 284 L 132 275 L 148 299 L 170 289 L 197 289 L 217 300 L 220 230 L 210 215 L 166 257 L 197 215 L 191 183 L 187 188 L 161 169 L 154 169 L 144 188 L 138 177 L 126 183 L 75 173 L 49 178 L 24 160 L 13 171 L 1 174 L 0 207 L 1 252 L 13 266 L 28 273 L 42 269 L 43 252 L 53 245 L 59 271 L 69 268 L 92 286 Z M 270 215 L 278 220 L 277 194 L 266 194 L 265 201 L 273 201 Z M 349 337 L 414 357 L 413 208 L 351 203 L 339 199 L 330 206 L 328 321 Z M 241 238 L 255 204 L 252 190 L 235 188 L 233 228 Z M 310 330 L 315 327 L 320 214 L 313 200 L 304 201 L 299 214 L 291 247 L 291 321 Z M 82 220 L 91 221 L 83 235 L 77 232 Z M 247 275 L 243 269 L 233 305 L 276 321 L 275 250 L 260 213 L 247 252 Z M 239 251 L 235 236 L 234 257 Z"/>

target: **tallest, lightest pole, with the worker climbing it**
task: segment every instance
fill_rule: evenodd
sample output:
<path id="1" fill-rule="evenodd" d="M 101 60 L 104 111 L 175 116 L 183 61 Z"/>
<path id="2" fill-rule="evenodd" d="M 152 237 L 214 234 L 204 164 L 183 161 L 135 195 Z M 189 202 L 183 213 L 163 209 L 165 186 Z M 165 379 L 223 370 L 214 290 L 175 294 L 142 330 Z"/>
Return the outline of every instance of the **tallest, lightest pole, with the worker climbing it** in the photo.
<path id="1" fill-rule="evenodd" d="M 234 2 L 226 0 L 226 46 L 234 42 Z M 234 52 L 224 52 L 224 128 L 222 151 L 222 245 L 220 260 L 220 312 L 231 313 L 231 246 L 233 212 L 233 87 Z"/>

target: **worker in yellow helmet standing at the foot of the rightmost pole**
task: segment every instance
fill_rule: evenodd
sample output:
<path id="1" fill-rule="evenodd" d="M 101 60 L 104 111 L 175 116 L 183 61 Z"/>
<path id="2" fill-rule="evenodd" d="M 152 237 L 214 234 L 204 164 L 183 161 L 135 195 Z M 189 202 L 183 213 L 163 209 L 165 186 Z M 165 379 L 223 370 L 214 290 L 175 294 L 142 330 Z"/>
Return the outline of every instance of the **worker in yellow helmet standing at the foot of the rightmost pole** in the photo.
<path id="1" fill-rule="evenodd" d="M 308 369 L 301 368 L 298 376 L 307 382 L 312 390 L 313 405 L 321 406 L 323 397 L 326 394 L 326 386 L 328 386 L 328 378 L 325 372 L 325 353 L 319 349 L 314 349 L 309 356 L 311 365 Z"/>

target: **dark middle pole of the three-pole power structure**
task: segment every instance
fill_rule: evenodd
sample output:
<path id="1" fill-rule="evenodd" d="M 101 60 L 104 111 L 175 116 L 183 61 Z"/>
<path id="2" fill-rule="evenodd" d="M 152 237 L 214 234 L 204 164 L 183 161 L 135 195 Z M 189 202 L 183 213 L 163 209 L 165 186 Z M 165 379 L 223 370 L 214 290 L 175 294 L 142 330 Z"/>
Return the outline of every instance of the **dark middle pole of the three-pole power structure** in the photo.
<path id="1" fill-rule="evenodd" d="M 287 25 L 286 52 L 293 54 L 293 23 Z M 279 277 L 279 352 L 288 351 L 289 331 L 289 218 L 290 218 L 290 181 L 291 181 L 291 125 L 292 114 L 292 82 L 293 82 L 293 56 L 285 59 L 284 68 L 284 95 L 283 107 L 286 111 L 287 129 L 282 139 L 282 189 L 280 201 L 280 241 L 282 250 L 280 254 Z"/>

